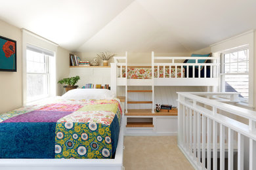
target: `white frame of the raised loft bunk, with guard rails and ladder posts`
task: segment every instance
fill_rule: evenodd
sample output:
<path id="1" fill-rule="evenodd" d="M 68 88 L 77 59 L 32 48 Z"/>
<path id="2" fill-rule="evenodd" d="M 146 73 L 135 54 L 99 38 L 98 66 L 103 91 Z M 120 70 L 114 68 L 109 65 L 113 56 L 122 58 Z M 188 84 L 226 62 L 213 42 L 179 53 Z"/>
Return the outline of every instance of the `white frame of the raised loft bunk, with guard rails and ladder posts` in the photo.
<path id="1" fill-rule="evenodd" d="M 185 59 L 195 59 L 196 63 L 183 63 Z M 210 60 L 210 63 L 198 63 L 198 59 Z M 167 62 L 161 62 L 167 61 Z M 193 67 L 192 78 L 184 77 L 181 74 L 181 78 L 177 77 L 177 67 L 183 67 L 186 65 L 186 73 L 190 66 Z M 200 71 L 198 72 L 198 78 L 195 77 L 194 69 L 198 66 L 210 67 L 210 77 L 206 78 L 206 71 L 203 77 L 200 77 Z M 127 74 L 125 77 L 122 75 L 122 69 L 125 68 L 127 73 L 127 52 L 125 56 L 114 57 L 114 63 L 111 63 L 111 90 L 115 94 L 117 93 L 117 86 L 125 86 L 125 101 L 127 101 L 127 86 L 152 86 L 152 112 L 154 112 L 154 86 L 218 86 L 220 80 L 220 59 L 219 57 L 168 57 L 168 56 L 155 56 L 152 52 L 152 63 L 149 67 L 152 69 L 151 79 L 129 79 Z M 134 65 L 133 65 L 134 67 Z M 138 66 L 144 67 L 144 66 Z M 158 68 L 158 76 L 154 77 L 154 68 Z M 160 78 L 160 67 L 163 68 L 163 78 Z M 165 77 L 165 68 L 175 67 L 175 77 Z M 170 69 L 171 71 L 171 69 Z M 127 102 L 125 102 L 125 112 L 127 112 Z"/>

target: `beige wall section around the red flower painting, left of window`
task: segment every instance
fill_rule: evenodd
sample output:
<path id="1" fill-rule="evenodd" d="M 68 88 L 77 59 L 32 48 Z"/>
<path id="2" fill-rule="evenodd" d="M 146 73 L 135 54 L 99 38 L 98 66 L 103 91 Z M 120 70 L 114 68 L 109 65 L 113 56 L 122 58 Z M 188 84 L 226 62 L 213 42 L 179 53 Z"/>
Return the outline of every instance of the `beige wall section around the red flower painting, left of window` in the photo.
<path id="1" fill-rule="evenodd" d="M 0 113 L 2 113 L 22 106 L 22 33 L 17 27 L 0 20 L 0 35 L 17 42 L 17 72 L 0 72 Z"/>

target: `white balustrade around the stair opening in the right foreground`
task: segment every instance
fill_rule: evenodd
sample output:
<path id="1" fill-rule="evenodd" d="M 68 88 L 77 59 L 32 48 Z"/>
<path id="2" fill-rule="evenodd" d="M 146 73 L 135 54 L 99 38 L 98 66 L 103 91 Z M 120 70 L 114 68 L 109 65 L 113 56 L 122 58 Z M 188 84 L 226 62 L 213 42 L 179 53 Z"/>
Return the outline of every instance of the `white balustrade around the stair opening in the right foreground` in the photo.
<path id="1" fill-rule="evenodd" d="M 178 146 L 195 169 L 256 169 L 256 112 L 222 97 L 238 101 L 238 93 L 178 92 Z"/>

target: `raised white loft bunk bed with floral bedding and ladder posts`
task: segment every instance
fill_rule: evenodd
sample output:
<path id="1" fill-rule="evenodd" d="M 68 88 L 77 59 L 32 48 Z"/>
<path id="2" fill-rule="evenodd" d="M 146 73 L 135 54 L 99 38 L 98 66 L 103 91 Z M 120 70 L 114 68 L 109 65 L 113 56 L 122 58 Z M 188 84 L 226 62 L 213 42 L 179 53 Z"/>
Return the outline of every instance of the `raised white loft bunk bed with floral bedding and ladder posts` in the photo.
<path id="1" fill-rule="evenodd" d="M 111 89 L 125 86 L 125 112 L 127 112 L 127 86 L 152 86 L 152 112 L 154 112 L 154 86 L 217 86 L 220 60 L 210 56 L 168 57 L 155 56 L 151 65 L 128 65 L 125 56 L 114 57 L 111 63 Z"/>

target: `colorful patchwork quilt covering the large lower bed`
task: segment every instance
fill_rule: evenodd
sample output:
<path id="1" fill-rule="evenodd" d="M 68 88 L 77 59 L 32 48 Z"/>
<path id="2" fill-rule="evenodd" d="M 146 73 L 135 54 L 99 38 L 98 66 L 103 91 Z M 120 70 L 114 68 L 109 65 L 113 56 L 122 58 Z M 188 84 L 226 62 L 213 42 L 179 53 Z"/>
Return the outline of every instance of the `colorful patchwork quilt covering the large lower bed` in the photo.
<path id="1" fill-rule="evenodd" d="M 64 100 L 0 115 L 0 158 L 114 158 L 117 99 Z"/>

